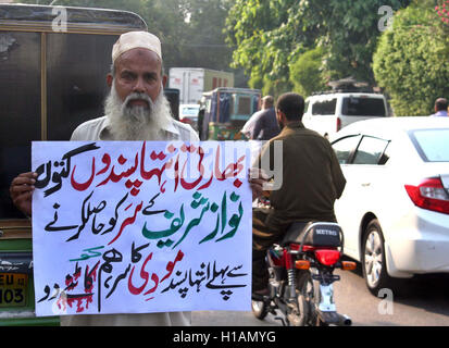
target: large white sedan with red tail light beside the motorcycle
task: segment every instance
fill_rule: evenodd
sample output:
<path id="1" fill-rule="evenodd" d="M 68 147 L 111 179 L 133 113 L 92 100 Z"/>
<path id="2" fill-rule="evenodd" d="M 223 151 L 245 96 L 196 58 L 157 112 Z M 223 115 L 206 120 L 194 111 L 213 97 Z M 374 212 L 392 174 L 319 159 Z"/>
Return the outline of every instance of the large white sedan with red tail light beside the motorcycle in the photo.
<path id="1" fill-rule="evenodd" d="M 332 144 L 347 179 L 335 203 L 345 253 L 369 289 L 449 273 L 449 119 L 361 121 Z"/>

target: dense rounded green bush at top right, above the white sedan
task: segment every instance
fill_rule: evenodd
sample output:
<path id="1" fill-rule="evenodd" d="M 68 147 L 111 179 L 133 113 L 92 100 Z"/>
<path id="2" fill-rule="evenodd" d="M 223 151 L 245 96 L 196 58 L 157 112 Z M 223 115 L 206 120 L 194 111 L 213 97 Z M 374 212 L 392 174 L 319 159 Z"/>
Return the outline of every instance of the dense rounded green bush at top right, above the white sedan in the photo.
<path id="1" fill-rule="evenodd" d="M 395 16 L 374 54 L 374 74 L 396 115 L 427 115 L 449 96 L 449 39 L 434 7 L 415 4 Z"/>

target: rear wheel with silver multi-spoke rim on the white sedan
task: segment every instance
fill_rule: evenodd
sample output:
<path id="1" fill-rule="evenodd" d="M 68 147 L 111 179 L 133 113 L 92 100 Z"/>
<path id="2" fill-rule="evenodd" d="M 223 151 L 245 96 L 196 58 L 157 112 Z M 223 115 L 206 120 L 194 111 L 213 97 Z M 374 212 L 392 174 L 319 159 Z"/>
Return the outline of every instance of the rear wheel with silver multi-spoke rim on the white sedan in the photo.
<path id="1" fill-rule="evenodd" d="M 385 240 L 377 219 L 366 226 L 362 244 L 362 270 L 366 286 L 377 296 L 379 289 L 391 287 L 385 262 Z"/>

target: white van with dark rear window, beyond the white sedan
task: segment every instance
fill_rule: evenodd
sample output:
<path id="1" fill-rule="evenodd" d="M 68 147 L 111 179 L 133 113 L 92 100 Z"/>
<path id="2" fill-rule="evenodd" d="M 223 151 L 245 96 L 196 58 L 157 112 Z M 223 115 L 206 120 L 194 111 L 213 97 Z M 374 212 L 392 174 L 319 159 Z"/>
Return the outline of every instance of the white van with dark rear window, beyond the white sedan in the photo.
<path id="1" fill-rule="evenodd" d="M 385 96 L 373 92 L 329 92 L 305 99 L 302 123 L 325 137 L 357 121 L 388 117 Z"/>

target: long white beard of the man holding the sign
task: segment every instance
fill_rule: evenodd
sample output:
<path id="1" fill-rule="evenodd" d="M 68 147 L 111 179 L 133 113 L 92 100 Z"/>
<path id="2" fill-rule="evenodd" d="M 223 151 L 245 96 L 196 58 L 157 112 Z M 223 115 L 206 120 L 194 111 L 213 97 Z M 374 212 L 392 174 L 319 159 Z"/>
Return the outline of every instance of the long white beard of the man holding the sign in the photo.
<path id="1" fill-rule="evenodd" d="M 149 108 L 128 107 L 134 98 L 147 100 Z M 104 113 L 114 140 L 164 140 L 162 129 L 172 121 L 170 103 L 162 89 L 155 102 L 147 95 L 133 94 L 122 102 L 116 94 L 115 84 L 105 99 Z"/>

